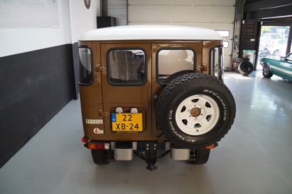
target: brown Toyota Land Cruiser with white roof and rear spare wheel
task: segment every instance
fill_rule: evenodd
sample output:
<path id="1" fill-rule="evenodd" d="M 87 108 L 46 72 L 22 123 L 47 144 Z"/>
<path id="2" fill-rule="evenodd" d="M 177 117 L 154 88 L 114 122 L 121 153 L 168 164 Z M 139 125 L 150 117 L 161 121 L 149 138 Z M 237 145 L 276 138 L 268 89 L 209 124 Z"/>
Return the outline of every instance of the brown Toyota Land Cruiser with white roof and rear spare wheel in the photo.
<path id="1" fill-rule="evenodd" d="M 79 41 L 85 147 L 95 164 L 137 155 L 204 164 L 236 107 L 222 81 L 222 37 L 186 26 L 117 26 Z M 159 154 L 158 154 L 159 153 Z"/>

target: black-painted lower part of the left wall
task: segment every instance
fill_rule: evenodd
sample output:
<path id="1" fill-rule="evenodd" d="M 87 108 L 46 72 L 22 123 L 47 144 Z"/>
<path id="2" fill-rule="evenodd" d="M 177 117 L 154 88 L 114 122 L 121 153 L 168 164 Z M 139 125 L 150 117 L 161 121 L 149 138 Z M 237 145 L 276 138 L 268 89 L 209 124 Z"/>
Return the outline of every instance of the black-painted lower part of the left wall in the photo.
<path id="1" fill-rule="evenodd" d="M 76 98 L 72 44 L 0 58 L 0 167 Z"/>

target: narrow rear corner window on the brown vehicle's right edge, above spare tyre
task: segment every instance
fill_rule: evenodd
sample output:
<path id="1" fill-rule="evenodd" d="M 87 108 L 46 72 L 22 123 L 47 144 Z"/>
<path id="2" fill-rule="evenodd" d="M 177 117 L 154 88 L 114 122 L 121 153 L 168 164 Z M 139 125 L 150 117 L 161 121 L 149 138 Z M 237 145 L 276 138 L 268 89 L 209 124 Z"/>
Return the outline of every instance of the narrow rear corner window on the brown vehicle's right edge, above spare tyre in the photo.
<path id="1" fill-rule="evenodd" d="M 210 50 L 210 64 L 211 69 L 210 74 L 211 76 L 216 76 L 219 80 L 222 80 L 222 73 L 223 73 L 223 50 L 222 46 L 214 46 Z"/>

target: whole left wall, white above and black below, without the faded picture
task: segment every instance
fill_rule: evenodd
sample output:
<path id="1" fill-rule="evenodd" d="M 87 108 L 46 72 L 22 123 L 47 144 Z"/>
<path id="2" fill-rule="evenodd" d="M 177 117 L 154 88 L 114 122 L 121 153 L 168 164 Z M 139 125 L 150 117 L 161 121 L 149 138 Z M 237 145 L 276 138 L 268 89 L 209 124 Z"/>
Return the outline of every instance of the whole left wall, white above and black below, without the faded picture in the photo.
<path id="1" fill-rule="evenodd" d="M 90 10 L 83 1 L 57 2 L 58 27 L 0 26 L 0 168 L 76 98 L 72 41 L 95 28 L 99 8 L 95 1 Z M 86 15 L 86 21 L 78 15 Z"/>

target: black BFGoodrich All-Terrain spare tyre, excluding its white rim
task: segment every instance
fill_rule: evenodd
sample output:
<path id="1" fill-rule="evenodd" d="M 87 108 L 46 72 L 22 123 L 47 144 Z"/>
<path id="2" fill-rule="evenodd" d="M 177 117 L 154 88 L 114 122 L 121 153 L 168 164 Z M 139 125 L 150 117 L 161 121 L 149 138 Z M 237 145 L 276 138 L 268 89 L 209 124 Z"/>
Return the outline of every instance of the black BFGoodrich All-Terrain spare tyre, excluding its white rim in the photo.
<path id="1" fill-rule="evenodd" d="M 197 136 L 180 130 L 175 118 L 176 112 L 180 111 L 177 110 L 180 103 L 193 95 L 212 98 L 219 109 L 219 118 L 214 127 Z M 200 149 L 211 143 L 217 143 L 234 123 L 235 114 L 236 106 L 229 89 L 214 76 L 202 73 L 188 73 L 172 80 L 161 91 L 156 104 L 156 121 L 159 130 L 170 143 L 181 148 Z"/>

